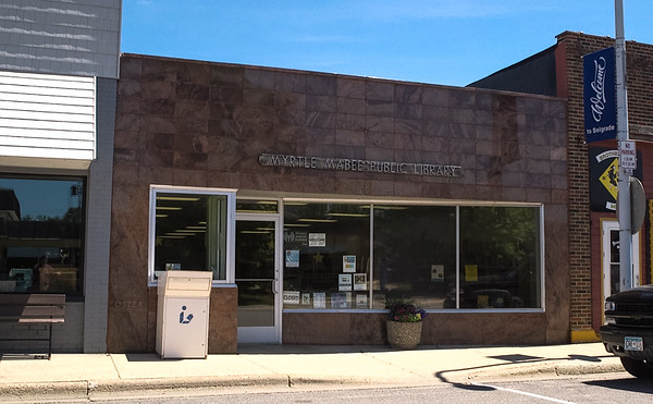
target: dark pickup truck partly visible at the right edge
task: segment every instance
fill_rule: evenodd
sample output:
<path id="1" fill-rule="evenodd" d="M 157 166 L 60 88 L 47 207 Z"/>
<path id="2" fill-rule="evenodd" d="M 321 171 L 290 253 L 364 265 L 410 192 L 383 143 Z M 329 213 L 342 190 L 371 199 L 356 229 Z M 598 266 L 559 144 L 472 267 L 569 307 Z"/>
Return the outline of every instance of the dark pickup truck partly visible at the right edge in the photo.
<path id="1" fill-rule="evenodd" d="M 653 378 L 653 285 L 633 287 L 605 299 L 601 341 L 638 378 Z"/>

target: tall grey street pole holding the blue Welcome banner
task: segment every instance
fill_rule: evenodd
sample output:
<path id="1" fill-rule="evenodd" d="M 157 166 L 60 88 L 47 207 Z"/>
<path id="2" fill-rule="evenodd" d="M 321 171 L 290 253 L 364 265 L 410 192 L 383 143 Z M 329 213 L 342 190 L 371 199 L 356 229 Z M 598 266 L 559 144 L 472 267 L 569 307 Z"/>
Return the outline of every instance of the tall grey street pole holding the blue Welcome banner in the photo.
<path id="1" fill-rule="evenodd" d="M 626 40 L 624 39 L 624 2 L 615 0 L 615 63 L 617 87 L 617 142 L 619 148 L 619 180 L 617 183 L 617 218 L 619 220 L 619 291 L 633 286 L 632 233 L 630 224 L 630 175 L 621 158 L 624 143 L 628 137 L 628 97 L 626 94 Z"/>

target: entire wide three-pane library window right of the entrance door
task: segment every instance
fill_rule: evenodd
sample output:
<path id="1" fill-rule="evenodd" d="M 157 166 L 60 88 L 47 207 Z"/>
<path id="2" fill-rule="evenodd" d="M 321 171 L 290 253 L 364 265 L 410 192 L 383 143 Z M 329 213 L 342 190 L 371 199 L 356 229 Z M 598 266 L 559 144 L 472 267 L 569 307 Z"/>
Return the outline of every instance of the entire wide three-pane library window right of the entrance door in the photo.
<path id="1" fill-rule="evenodd" d="M 383 309 L 389 297 L 427 309 L 541 308 L 540 215 L 286 203 L 284 308 Z"/>

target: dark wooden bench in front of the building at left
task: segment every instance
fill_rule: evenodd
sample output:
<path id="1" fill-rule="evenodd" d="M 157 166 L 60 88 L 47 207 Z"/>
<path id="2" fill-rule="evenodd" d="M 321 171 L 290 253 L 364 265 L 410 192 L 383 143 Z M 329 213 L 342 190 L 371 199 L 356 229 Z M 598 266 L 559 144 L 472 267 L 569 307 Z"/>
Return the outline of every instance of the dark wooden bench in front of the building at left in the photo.
<path id="1" fill-rule="evenodd" d="M 52 325 L 64 320 L 64 294 L 0 293 L 0 322 L 47 325 L 48 338 L 0 338 L 0 341 L 48 341 L 48 359 L 52 356 Z M 27 332 L 17 331 L 20 333 Z"/>

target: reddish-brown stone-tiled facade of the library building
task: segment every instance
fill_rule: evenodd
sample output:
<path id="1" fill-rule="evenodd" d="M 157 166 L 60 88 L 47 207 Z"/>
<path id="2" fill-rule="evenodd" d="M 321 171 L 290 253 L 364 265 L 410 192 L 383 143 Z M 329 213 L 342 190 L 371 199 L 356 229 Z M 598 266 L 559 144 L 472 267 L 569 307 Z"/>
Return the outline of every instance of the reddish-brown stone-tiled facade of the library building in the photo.
<path id="1" fill-rule="evenodd" d="M 468 265 L 463 258 L 457 262 L 456 248 L 445 248 L 441 253 L 452 257 L 451 260 L 442 258 L 446 265 L 432 265 L 427 269 L 431 271 L 429 291 L 439 292 L 424 292 L 424 296 L 433 297 L 429 301 L 433 303 L 426 307 L 428 317 L 422 343 L 568 341 L 571 310 L 567 243 L 570 236 L 567 224 L 569 155 L 567 108 L 563 99 L 139 54 L 123 54 L 120 65 L 113 156 L 109 352 L 155 348 L 157 264 L 152 262 L 152 255 L 163 241 L 152 235 L 152 229 L 160 220 L 153 210 L 156 206 L 158 212 L 161 194 L 157 192 L 162 188 L 176 192 L 176 196 L 182 192 L 201 194 L 202 189 L 233 193 L 237 201 L 236 216 L 246 215 L 242 206 L 251 200 L 266 199 L 279 207 L 274 211 L 279 218 L 275 220 L 284 223 L 286 258 L 281 258 L 282 270 L 275 280 L 279 283 L 272 283 L 272 289 L 276 294 L 283 289 L 284 294 L 283 302 L 275 301 L 274 306 L 280 314 L 276 327 L 281 332 L 281 340 L 275 342 L 281 343 L 385 343 L 386 310 L 377 299 L 389 292 L 383 289 L 383 282 L 381 286 L 374 283 L 379 279 L 378 265 L 368 256 L 365 249 L 368 247 L 357 256 L 347 256 L 358 257 L 354 258 L 354 262 L 358 262 L 354 264 L 356 271 L 367 271 L 360 285 L 367 295 L 356 303 L 345 293 L 346 301 L 338 301 L 336 306 L 337 280 L 336 292 L 326 294 L 331 305 L 323 306 L 324 293 L 316 292 L 320 285 L 306 284 L 305 279 L 304 285 L 298 286 L 287 279 L 289 273 L 295 273 L 294 267 L 299 266 L 292 257 L 294 249 L 288 243 L 297 242 L 295 234 L 300 233 L 293 232 L 291 240 L 289 221 L 297 211 L 308 215 L 305 207 L 335 209 L 334 206 L 338 206 L 344 209 L 338 215 L 350 218 L 355 216 L 354 210 L 390 209 L 389 205 L 405 211 L 426 207 L 427 215 L 431 215 L 431 208 L 448 209 L 449 213 L 441 218 L 454 223 L 447 228 L 452 234 L 451 245 L 463 249 L 465 243 L 454 242 L 455 220 L 463 223 L 463 212 L 476 215 L 475 209 L 479 208 L 503 216 L 517 208 L 534 213 L 532 223 L 540 230 L 531 232 L 535 242 L 527 247 L 534 249 L 530 258 L 522 256 L 530 259 L 530 274 L 517 267 L 514 270 L 518 272 L 510 272 L 519 273 L 521 283 L 515 287 L 521 291 L 523 298 L 513 296 L 510 304 L 497 297 L 509 296 L 504 290 L 507 286 L 497 287 L 498 283 L 492 283 L 498 274 L 484 272 L 479 262 Z M 294 158 L 295 162 L 268 164 L 270 156 Z M 317 169 L 318 162 L 323 160 L 338 161 L 343 167 L 347 161 L 349 169 Z M 387 170 L 379 169 L 384 164 Z M 408 175 L 405 172 L 408 167 L 419 167 L 420 175 Z M 433 170 L 427 169 L 430 170 L 427 172 L 422 167 Z M 460 170 L 461 175 L 443 174 L 448 170 L 445 167 Z M 359 216 L 369 220 L 369 215 Z M 380 222 L 385 215 L 374 218 Z M 156 222 L 153 227 L 152 222 Z M 378 225 L 377 222 L 373 225 Z M 438 225 L 439 222 L 433 222 L 424 231 Z M 401 231 L 412 237 L 409 229 Z M 338 233 L 340 244 L 347 243 L 347 232 Z M 365 227 L 361 232 L 366 232 Z M 394 233 L 383 234 L 391 237 Z M 505 237 L 513 237 L 509 233 Z M 236 256 L 239 240 L 244 240 L 239 234 L 234 234 L 233 241 Z M 320 234 L 324 234 L 323 244 L 320 244 Z M 374 244 L 382 233 L 373 234 L 373 243 L 367 241 L 367 235 L 360 240 L 370 243 L 365 245 L 374 245 L 370 247 L 370 255 L 383 255 Z M 433 234 L 440 237 L 438 232 Z M 305 241 L 306 244 L 296 249 L 301 265 L 311 246 L 329 247 L 331 243 L 328 232 L 311 234 L 310 243 L 313 235 L 316 244 Z M 442 240 L 448 243 L 448 236 Z M 478 248 L 490 244 L 479 243 Z M 342 252 L 334 255 L 333 249 L 311 253 L 310 257 L 313 264 L 323 266 L 328 253 L 328 257 L 344 258 Z M 412 259 L 408 255 L 404 257 Z M 214 281 L 209 315 L 210 353 L 235 352 L 242 338 L 238 316 L 244 303 L 238 296 L 242 298 L 246 287 L 238 284 L 238 266 L 236 262 L 233 277 L 229 273 L 233 266 L 227 262 L 226 277 Z M 171 264 L 170 268 L 176 267 Z M 498 271 L 498 267 L 495 270 Z M 505 280 L 509 271 L 504 270 L 507 268 L 501 269 L 501 277 Z M 342 281 L 347 273 L 345 269 L 343 272 L 345 277 L 338 278 L 341 287 L 347 290 L 349 286 Z M 421 277 L 421 272 L 410 273 Z M 453 299 L 447 301 L 445 294 L 449 292 L 444 284 L 436 283 L 442 273 L 452 280 L 454 287 L 457 287 L 455 282 L 460 283 L 459 293 Z M 472 291 L 466 290 L 464 296 L 463 284 L 481 281 L 492 286 L 475 290 L 473 301 L 466 306 L 464 301 L 467 302 Z M 282 286 L 276 287 L 279 284 Z M 418 290 L 420 285 L 414 287 Z M 530 292 L 525 292 L 527 290 Z M 300 295 L 301 304 L 308 305 L 294 306 Z M 297 296 L 297 302 L 293 296 Z"/>

